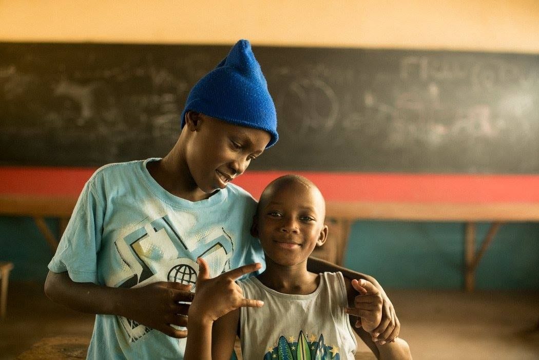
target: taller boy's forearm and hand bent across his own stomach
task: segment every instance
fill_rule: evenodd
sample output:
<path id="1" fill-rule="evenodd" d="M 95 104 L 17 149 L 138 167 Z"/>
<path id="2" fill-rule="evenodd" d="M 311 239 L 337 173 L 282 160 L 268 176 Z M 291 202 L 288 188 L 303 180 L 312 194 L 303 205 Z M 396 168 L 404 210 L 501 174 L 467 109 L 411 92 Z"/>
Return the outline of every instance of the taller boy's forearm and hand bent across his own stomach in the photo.
<path id="1" fill-rule="evenodd" d="M 186 326 L 189 305 L 194 294 L 190 286 L 158 282 L 139 288 L 119 288 L 77 283 L 67 272 L 49 271 L 45 280 L 45 294 L 52 301 L 71 309 L 91 314 L 125 316 L 172 337 L 187 336 L 170 324 Z M 151 303 L 153 306 L 149 307 Z"/>

